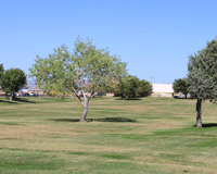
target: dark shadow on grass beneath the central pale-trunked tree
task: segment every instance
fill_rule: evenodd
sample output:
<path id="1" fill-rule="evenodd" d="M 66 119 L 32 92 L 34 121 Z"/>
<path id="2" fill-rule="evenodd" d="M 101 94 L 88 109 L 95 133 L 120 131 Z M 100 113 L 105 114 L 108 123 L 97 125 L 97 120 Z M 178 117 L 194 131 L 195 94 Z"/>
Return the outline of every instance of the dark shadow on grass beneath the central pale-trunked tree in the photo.
<path id="1" fill-rule="evenodd" d="M 80 122 L 79 119 L 52 119 L 50 121 L 55 122 Z M 86 122 L 136 122 L 132 119 L 125 119 L 125 117 L 101 117 L 101 119 L 86 119 Z"/>

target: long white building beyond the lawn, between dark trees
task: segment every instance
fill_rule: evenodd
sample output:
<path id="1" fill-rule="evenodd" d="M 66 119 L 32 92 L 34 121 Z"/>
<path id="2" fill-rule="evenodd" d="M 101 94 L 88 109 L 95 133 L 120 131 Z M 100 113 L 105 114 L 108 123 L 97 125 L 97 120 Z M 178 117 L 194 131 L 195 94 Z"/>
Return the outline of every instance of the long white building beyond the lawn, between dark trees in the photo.
<path id="1" fill-rule="evenodd" d="M 173 97 L 173 84 L 152 84 L 152 97 Z"/>

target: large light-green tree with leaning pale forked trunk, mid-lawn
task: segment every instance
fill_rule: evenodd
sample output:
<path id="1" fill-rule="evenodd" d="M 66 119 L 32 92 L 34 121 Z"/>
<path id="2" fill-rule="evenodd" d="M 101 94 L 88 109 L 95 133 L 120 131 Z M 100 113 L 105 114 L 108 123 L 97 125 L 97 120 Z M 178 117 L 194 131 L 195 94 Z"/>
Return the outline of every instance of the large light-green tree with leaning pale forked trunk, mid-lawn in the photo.
<path id="1" fill-rule="evenodd" d="M 116 55 L 110 55 L 107 49 L 97 49 L 89 38 L 84 41 L 78 37 L 73 53 L 63 45 L 54 49 L 54 53 L 48 58 L 41 59 L 37 55 L 36 63 L 29 71 L 29 76 L 43 90 L 62 92 L 62 97 L 73 91 L 84 107 L 80 119 L 84 122 L 89 110 L 88 103 L 94 92 L 113 86 L 125 76 L 126 63 L 120 62 Z"/>

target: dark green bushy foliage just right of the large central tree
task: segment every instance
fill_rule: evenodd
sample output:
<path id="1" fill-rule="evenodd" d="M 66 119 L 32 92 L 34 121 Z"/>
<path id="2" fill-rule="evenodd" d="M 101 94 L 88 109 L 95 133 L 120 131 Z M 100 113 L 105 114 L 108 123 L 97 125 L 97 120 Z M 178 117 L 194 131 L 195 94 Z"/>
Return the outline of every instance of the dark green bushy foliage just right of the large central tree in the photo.
<path id="1" fill-rule="evenodd" d="M 125 98 L 146 97 L 152 92 L 152 85 L 148 80 L 140 80 L 137 76 L 128 75 L 119 80 L 115 96 Z"/>

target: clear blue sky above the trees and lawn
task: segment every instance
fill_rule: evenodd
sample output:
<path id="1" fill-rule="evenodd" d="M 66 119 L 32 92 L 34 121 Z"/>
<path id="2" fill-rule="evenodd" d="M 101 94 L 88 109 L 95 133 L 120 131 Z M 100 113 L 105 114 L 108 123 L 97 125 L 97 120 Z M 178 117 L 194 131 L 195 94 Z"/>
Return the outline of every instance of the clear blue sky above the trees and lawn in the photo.
<path id="1" fill-rule="evenodd" d="M 188 55 L 217 36 L 216 0 L 0 0 L 0 63 L 28 74 L 36 55 L 79 35 L 127 62 L 128 73 L 173 83 Z"/>

